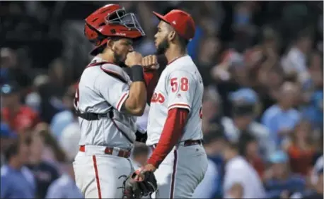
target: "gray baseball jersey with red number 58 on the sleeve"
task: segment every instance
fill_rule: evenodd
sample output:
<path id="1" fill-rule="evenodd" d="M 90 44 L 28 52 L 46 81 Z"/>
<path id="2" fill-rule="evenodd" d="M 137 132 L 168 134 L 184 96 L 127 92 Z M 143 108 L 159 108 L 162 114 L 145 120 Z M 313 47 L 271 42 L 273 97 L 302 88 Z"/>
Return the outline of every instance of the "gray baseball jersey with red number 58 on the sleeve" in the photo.
<path id="1" fill-rule="evenodd" d="M 161 73 L 151 98 L 147 126 L 147 145 L 158 143 L 166 123 L 168 110 L 183 108 L 190 111 L 185 132 L 180 141 L 202 139 L 202 76 L 190 56 L 171 62 Z"/>

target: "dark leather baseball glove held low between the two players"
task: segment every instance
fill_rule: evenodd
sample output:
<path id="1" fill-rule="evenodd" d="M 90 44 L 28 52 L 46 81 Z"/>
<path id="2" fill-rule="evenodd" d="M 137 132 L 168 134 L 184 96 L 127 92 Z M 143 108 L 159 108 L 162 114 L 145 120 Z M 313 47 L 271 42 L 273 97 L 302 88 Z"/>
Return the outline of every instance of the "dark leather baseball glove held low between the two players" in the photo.
<path id="1" fill-rule="evenodd" d="M 144 176 L 141 181 L 134 179 L 137 175 L 135 172 L 132 176 L 128 176 L 127 179 L 125 179 L 123 199 L 139 199 L 143 196 L 151 195 L 157 190 L 158 184 L 154 173 L 146 171 L 141 174 Z"/>

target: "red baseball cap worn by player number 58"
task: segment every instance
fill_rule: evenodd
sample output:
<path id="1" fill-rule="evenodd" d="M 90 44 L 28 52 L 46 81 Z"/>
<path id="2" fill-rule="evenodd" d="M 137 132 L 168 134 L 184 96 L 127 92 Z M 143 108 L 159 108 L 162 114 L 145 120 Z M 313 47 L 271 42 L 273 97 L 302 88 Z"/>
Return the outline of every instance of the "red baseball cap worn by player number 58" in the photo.
<path id="1" fill-rule="evenodd" d="M 170 24 L 181 37 L 191 40 L 195 36 L 195 21 L 189 13 L 180 10 L 172 10 L 165 16 L 156 12 L 153 13 L 160 20 Z"/>

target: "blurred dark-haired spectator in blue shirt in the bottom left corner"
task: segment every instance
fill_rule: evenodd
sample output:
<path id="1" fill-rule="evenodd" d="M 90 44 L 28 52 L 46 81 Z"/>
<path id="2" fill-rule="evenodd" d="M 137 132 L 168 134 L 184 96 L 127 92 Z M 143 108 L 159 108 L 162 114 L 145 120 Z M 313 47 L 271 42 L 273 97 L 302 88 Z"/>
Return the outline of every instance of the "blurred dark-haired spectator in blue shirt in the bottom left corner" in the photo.
<path id="1" fill-rule="evenodd" d="M 1 167 L 0 198 L 35 198 L 35 179 L 24 167 L 30 140 L 19 138 L 5 152 L 7 164 Z"/>

